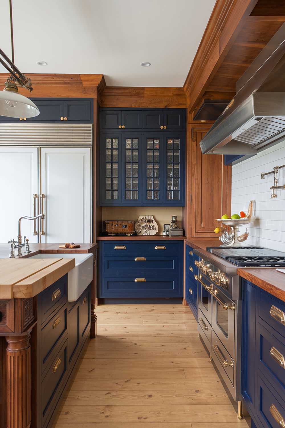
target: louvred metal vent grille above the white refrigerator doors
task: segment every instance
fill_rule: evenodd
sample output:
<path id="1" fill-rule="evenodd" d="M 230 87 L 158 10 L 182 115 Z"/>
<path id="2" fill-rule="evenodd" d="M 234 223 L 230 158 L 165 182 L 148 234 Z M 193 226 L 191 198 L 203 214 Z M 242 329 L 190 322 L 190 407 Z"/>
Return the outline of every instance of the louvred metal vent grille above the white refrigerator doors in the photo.
<path id="1" fill-rule="evenodd" d="M 0 146 L 92 146 L 92 139 L 91 124 L 0 124 Z"/>

